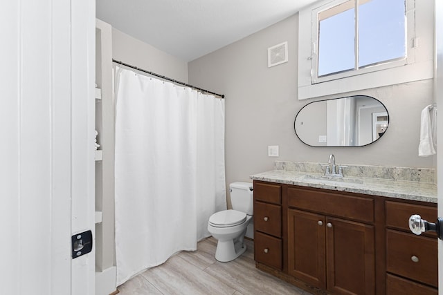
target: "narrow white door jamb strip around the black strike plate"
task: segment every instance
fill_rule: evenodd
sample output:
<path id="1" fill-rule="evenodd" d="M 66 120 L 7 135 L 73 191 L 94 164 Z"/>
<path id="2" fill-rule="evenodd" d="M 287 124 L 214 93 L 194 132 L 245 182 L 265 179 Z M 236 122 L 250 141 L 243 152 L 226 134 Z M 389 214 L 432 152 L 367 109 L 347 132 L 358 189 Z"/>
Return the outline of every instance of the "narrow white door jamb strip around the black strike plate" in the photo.
<path id="1" fill-rule="evenodd" d="M 91 253 L 72 260 L 71 294 L 95 294 L 95 0 L 71 1 L 71 83 L 71 234 L 93 234 Z"/>

